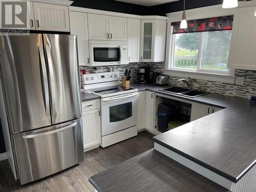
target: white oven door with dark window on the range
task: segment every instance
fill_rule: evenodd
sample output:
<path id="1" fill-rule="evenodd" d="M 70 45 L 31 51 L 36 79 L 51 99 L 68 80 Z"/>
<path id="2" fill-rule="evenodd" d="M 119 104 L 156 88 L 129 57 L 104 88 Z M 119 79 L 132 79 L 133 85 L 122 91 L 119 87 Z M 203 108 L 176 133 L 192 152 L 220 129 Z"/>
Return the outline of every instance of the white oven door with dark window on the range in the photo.
<path id="1" fill-rule="evenodd" d="M 102 136 L 137 125 L 137 99 L 137 92 L 101 99 Z"/>

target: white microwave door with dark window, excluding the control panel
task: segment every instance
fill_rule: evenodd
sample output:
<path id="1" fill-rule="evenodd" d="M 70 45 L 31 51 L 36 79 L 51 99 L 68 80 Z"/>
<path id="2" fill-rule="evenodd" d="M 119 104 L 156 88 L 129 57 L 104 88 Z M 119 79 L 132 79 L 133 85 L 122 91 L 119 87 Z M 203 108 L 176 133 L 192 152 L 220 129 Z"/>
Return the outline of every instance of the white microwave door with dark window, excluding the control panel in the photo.
<path id="1" fill-rule="evenodd" d="M 90 44 L 92 66 L 120 65 L 121 46 L 114 44 Z"/>

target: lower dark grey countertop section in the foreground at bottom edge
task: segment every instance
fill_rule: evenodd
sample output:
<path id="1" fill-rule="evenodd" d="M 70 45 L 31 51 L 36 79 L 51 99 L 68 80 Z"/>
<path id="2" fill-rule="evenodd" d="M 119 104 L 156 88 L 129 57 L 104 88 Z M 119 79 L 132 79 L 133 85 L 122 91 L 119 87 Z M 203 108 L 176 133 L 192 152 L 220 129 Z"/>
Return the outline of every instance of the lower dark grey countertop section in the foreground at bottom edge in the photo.
<path id="1" fill-rule="evenodd" d="M 229 191 L 153 149 L 104 170 L 89 181 L 99 192 Z"/>

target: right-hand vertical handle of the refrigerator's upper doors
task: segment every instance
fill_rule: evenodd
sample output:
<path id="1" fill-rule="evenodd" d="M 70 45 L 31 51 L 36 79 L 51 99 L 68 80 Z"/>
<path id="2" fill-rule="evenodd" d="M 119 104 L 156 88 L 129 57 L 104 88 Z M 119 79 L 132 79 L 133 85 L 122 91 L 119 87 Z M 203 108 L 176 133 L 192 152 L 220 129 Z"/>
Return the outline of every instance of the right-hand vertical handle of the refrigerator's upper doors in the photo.
<path id="1" fill-rule="evenodd" d="M 46 57 L 48 60 L 49 72 L 50 72 L 50 88 L 51 88 L 51 99 L 52 99 L 52 115 L 56 115 L 56 98 L 55 98 L 55 80 L 53 74 L 53 64 L 52 64 L 52 57 L 50 52 L 50 46 L 46 45 Z"/>

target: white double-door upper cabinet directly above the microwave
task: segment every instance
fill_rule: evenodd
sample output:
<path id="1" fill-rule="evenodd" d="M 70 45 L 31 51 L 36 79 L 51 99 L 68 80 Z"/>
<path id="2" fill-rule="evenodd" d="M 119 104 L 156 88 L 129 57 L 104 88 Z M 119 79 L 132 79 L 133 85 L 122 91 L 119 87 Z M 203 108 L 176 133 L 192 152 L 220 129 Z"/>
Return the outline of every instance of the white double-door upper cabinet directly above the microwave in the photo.
<path id="1" fill-rule="evenodd" d="M 127 18 L 88 13 L 90 40 L 127 40 Z"/>

